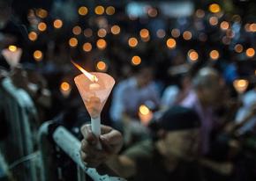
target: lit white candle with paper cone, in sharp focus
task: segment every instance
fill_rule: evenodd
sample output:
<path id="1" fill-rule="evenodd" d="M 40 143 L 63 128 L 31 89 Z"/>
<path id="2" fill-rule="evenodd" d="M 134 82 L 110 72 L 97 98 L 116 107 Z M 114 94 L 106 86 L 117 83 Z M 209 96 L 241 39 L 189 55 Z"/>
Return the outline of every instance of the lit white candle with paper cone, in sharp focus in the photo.
<path id="1" fill-rule="evenodd" d="M 112 76 L 105 73 L 88 73 L 77 63 L 72 62 L 83 74 L 76 76 L 74 81 L 80 96 L 91 116 L 92 131 L 96 136 L 101 134 L 101 112 L 115 84 Z M 100 148 L 100 145 L 98 146 Z"/>

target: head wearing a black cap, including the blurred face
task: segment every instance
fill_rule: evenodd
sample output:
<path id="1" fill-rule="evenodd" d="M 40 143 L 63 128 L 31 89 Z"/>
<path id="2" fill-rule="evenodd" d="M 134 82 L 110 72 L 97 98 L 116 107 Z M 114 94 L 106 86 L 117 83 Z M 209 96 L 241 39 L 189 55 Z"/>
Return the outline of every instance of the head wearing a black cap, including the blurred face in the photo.
<path id="1" fill-rule="evenodd" d="M 200 118 L 192 109 L 171 107 L 156 122 L 160 153 L 166 158 L 192 160 L 199 153 Z"/>

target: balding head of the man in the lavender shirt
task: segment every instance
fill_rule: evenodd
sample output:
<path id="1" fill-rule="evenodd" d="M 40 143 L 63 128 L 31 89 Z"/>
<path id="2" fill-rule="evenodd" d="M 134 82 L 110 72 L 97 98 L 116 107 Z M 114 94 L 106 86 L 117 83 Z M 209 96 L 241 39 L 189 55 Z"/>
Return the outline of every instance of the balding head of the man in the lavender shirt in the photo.
<path id="1" fill-rule="evenodd" d="M 221 96 L 224 83 L 215 69 L 203 68 L 193 78 L 192 85 L 202 105 L 215 105 Z"/>

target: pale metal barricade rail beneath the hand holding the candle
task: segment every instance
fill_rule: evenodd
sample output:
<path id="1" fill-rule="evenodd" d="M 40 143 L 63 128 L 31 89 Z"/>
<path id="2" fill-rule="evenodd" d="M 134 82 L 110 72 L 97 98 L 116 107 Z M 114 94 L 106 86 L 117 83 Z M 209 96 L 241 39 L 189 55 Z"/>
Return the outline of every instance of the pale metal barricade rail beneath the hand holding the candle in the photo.
<path id="1" fill-rule="evenodd" d="M 77 164 L 77 180 L 85 181 L 86 174 L 95 181 L 108 181 L 108 180 L 125 180 L 120 177 L 110 177 L 108 175 L 100 175 L 95 169 L 87 168 L 86 164 L 82 162 L 79 154 L 80 141 L 72 135 L 66 128 L 62 126 L 55 126 L 51 121 L 45 122 L 39 131 L 39 145 L 41 150 L 41 181 L 56 180 L 55 163 L 50 159 L 49 154 L 52 153 L 53 148 L 49 139 L 58 148 L 61 148 L 74 163 Z"/>

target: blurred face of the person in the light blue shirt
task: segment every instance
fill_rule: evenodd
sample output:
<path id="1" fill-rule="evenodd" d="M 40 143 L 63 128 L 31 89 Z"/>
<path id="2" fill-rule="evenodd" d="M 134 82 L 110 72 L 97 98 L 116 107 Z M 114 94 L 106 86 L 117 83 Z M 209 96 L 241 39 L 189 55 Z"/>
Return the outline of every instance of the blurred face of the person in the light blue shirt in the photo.
<path id="1" fill-rule="evenodd" d="M 137 75 L 137 81 L 139 87 L 145 87 L 153 79 L 153 69 L 144 68 L 141 69 Z"/>

